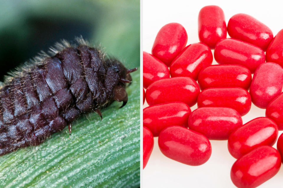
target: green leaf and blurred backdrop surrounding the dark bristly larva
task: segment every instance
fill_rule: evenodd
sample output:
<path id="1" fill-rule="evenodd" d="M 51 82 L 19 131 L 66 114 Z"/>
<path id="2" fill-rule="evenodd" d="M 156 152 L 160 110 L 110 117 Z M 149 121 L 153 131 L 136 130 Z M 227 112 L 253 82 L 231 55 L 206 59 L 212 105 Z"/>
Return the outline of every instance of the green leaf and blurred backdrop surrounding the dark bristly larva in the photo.
<path id="1" fill-rule="evenodd" d="M 0 1 L 0 80 L 6 72 L 81 36 L 140 66 L 140 1 Z M 0 156 L 0 187 L 139 187 L 140 73 L 132 73 L 129 101 L 91 113 L 40 146 Z"/>

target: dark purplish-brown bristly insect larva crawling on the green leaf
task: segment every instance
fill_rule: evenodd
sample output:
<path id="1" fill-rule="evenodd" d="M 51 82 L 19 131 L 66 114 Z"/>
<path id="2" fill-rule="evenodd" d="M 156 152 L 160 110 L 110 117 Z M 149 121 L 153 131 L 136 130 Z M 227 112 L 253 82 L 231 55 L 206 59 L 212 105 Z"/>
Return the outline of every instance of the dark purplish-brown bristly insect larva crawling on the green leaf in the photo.
<path id="1" fill-rule="evenodd" d="M 42 52 L 7 76 L 0 88 L 0 156 L 37 146 L 81 114 L 114 100 L 127 103 L 130 73 L 115 58 L 89 47 L 82 37 L 76 45 L 66 40 Z M 121 108 L 120 107 L 120 108 Z"/>

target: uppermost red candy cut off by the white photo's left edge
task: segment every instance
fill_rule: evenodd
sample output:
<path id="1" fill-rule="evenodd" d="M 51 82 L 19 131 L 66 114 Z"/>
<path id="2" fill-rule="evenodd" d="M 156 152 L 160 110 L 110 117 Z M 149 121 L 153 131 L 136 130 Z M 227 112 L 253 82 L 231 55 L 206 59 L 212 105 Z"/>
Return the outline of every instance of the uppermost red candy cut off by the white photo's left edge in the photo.
<path id="1" fill-rule="evenodd" d="M 153 55 L 143 52 L 143 87 L 148 86 L 160 79 L 169 78 L 168 67 Z"/>

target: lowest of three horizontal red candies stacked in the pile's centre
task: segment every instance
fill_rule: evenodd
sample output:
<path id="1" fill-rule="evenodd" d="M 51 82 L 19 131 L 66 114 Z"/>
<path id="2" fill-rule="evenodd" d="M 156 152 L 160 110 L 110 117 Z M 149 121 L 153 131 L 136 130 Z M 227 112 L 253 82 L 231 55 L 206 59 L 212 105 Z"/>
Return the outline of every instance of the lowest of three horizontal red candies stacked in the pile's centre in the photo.
<path id="1" fill-rule="evenodd" d="M 202 107 L 194 110 L 188 120 L 191 130 L 210 140 L 228 140 L 229 135 L 243 125 L 241 115 L 232 108 Z"/>

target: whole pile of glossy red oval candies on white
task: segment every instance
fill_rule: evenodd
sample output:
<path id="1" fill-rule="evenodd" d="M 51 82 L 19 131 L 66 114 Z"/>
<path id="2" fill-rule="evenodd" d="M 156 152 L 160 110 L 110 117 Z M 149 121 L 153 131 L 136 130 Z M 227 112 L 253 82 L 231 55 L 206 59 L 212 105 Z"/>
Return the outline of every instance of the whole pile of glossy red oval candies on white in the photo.
<path id="1" fill-rule="evenodd" d="M 273 37 L 247 14 L 234 15 L 226 27 L 218 6 L 203 7 L 198 24 L 200 43 L 186 46 L 184 27 L 169 23 L 152 54 L 143 52 L 143 102 L 149 105 L 143 109 L 143 168 L 153 137 L 165 156 L 193 166 L 209 160 L 209 140 L 228 140 L 237 159 L 232 182 L 257 187 L 277 174 L 283 159 L 283 134 L 277 141 L 283 130 L 283 29 Z M 220 65 L 212 65 L 211 49 Z M 243 125 L 251 102 L 266 109 L 266 117 Z M 276 141 L 278 151 L 271 147 Z"/>

